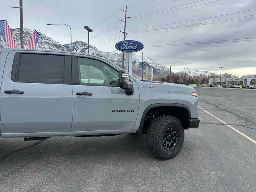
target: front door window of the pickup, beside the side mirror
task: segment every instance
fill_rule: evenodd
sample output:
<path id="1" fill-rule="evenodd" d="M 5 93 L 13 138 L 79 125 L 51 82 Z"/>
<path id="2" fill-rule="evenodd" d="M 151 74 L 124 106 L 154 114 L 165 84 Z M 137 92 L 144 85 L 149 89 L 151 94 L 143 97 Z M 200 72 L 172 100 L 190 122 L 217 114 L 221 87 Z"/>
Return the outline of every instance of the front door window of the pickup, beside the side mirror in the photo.
<path id="1" fill-rule="evenodd" d="M 118 72 L 94 59 L 78 58 L 80 84 L 117 86 Z"/>

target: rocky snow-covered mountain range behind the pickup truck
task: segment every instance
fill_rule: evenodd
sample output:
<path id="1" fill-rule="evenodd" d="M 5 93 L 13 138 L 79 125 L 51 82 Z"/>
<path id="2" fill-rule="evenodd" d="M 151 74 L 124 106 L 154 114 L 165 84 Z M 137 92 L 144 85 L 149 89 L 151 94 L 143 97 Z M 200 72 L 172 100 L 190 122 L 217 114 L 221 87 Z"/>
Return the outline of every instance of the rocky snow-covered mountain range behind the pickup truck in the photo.
<path id="1" fill-rule="evenodd" d="M 11 29 L 11 30 L 13 34 L 20 32 L 19 28 Z M 32 32 L 33 30 L 24 28 L 24 48 L 28 46 Z M 56 42 L 55 40 L 50 38 L 49 36 L 42 34 L 41 32 L 39 33 L 40 33 L 40 38 L 36 46 L 37 49 L 70 51 L 70 44 L 62 45 L 59 42 Z M 17 46 L 20 47 L 20 35 L 19 34 L 14 35 L 14 39 L 16 41 Z M 2 48 L 8 48 L 8 46 L 4 42 L 3 38 L 0 36 L 0 50 Z M 88 44 L 86 42 L 76 41 L 72 43 L 72 52 L 87 53 L 87 49 L 88 49 Z M 90 46 L 90 54 L 102 56 L 110 60 L 111 62 L 117 64 L 118 66 L 122 65 L 122 53 L 103 52 L 101 50 L 98 50 L 94 46 Z M 142 73 L 141 62 L 142 62 L 142 56 L 133 54 L 132 72 L 133 72 L 133 76 L 137 78 L 141 77 L 141 73 Z M 159 76 L 167 76 L 169 73 L 169 69 L 166 66 L 148 57 L 143 57 L 143 68 L 144 69 L 153 68 L 154 76 L 157 76 L 157 69 L 160 69 Z"/>

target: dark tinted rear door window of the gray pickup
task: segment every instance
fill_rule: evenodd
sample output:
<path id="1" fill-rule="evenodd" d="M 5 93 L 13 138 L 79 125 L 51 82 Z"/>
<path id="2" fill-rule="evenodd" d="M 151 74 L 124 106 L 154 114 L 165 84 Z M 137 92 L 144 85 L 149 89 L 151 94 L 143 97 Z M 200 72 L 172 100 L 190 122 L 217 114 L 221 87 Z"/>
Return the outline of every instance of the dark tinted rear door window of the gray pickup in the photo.
<path id="1" fill-rule="evenodd" d="M 65 56 L 21 54 L 18 82 L 63 83 Z"/>

